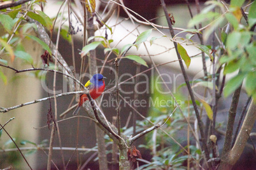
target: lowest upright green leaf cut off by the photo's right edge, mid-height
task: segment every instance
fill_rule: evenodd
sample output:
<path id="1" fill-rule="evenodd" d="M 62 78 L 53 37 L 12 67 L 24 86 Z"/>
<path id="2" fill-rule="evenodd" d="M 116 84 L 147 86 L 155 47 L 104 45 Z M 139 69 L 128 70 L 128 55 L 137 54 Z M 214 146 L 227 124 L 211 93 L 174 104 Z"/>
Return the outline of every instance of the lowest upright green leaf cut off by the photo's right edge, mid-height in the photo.
<path id="1" fill-rule="evenodd" d="M 249 96 L 253 95 L 253 93 L 255 95 L 256 93 L 255 80 L 256 80 L 256 72 L 250 72 L 246 77 L 245 89 Z"/>

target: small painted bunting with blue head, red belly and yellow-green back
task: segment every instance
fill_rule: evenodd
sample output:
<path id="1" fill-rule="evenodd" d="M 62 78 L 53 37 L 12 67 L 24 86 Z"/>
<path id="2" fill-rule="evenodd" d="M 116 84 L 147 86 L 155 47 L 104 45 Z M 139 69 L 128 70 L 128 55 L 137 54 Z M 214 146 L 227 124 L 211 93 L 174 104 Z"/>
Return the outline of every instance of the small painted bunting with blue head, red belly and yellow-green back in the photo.
<path id="1" fill-rule="evenodd" d="M 85 84 L 85 88 L 89 89 L 90 96 L 93 100 L 101 96 L 101 94 L 103 93 L 105 89 L 104 79 L 106 79 L 106 77 L 104 77 L 102 74 L 94 74 L 94 76 L 92 76 L 92 78 Z M 80 95 L 78 106 L 76 107 L 76 110 L 73 112 L 73 115 L 78 114 L 78 111 L 82 107 L 83 103 L 87 100 L 89 100 L 87 95 Z"/>

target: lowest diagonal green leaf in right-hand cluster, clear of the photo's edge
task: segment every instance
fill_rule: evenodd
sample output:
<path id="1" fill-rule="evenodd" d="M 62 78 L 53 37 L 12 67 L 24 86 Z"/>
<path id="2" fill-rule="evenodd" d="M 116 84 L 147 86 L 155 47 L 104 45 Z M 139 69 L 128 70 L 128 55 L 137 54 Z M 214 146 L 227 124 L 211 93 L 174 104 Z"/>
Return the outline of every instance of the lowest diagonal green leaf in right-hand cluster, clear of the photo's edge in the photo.
<path id="1" fill-rule="evenodd" d="M 231 93 L 233 93 L 242 84 L 244 78 L 245 74 L 238 74 L 235 77 L 232 77 L 224 88 L 224 96 L 227 97 L 231 95 Z"/>

